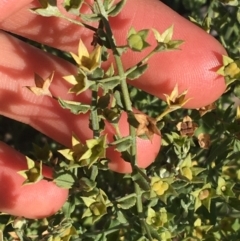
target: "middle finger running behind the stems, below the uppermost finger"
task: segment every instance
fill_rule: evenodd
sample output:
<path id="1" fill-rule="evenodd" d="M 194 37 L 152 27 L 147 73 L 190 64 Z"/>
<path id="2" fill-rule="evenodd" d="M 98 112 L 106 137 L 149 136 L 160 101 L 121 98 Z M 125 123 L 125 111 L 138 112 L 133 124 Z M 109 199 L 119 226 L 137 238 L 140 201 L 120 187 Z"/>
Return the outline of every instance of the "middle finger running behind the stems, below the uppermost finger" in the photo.
<path id="1" fill-rule="evenodd" d="M 53 96 L 71 100 L 73 95 L 67 94 L 69 86 L 62 76 L 74 74 L 77 69 L 67 61 L 43 53 L 5 33 L 0 34 L 0 42 L 4 58 L 0 58 L 0 103 L 6 103 L 0 108 L 0 113 L 9 118 L 31 125 L 40 132 L 52 137 L 65 146 L 71 147 L 71 137 L 74 133 L 82 142 L 93 138 L 89 129 L 89 115 L 73 115 L 60 107 L 58 102 L 47 96 L 36 96 L 25 86 L 33 86 L 34 72 L 47 77 L 53 70 L 54 79 L 51 84 Z M 89 92 L 79 95 L 82 102 L 89 102 Z M 120 121 L 120 132 L 127 136 L 127 116 Z M 109 140 L 115 134 L 110 124 L 106 124 Z M 138 138 L 138 164 L 147 167 L 155 159 L 160 149 L 161 138 L 154 136 L 152 142 Z M 124 162 L 119 153 L 108 151 L 110 168 L 118 172 L 131 172 L 129 163 Z M 143 154 L 144 153 L 144 154 Z"/>

